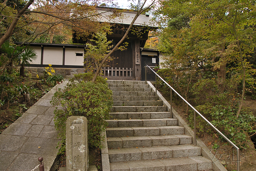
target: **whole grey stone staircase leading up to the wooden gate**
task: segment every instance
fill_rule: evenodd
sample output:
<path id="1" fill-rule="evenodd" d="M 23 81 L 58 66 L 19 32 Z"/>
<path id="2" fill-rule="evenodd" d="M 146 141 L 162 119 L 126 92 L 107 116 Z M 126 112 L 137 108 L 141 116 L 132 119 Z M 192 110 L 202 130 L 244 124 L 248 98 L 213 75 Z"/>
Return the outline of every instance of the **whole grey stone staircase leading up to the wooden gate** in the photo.
<path id="1" fill-rule="evenodd" d="M 192 137 L 172 119 L 145 81 L 108 80 L 114 105 L 107 120 L 111 171 L 212 170 Z"/>

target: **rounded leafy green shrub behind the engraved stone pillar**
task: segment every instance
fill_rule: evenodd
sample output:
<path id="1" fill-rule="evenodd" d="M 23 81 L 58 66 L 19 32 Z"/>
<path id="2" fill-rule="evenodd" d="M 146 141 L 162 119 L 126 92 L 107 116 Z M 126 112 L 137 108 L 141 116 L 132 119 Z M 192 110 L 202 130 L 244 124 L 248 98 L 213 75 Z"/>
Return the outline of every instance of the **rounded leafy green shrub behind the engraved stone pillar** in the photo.
<path id="1" fill-rule="evenodd" d="M 60 131 L 59 137 L 61 149 L 65 151 L 66 120 L 69 116 L 85 116 L 88 120 L 89 146 L 102 147 L 100 142 L 104 137 L 100 133 L 107 127 L 105 119 L 109 119 L 109 111 L 113 104 L 112 91 L 108 88 L 105 79 L 99 77 L 97 82 L 89 81 L 92 73 L 76 75 L 67 86 L 53 96 L 51 103 L 61 105 L 62 108 L 54 110 L 55 127 Z"/>

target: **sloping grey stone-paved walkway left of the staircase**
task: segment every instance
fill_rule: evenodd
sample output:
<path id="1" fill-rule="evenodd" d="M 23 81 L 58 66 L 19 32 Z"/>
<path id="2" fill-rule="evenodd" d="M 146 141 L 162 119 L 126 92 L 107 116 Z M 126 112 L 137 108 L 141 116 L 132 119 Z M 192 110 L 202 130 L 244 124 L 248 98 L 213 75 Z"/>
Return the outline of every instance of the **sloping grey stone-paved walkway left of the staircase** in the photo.
<path id="1" fill-rule="evenodd" d="M 59 141 L 53 122 L 55 107 L 50 104 L 55 92 L 56 87 L 53 87 L 0 134 L 0 171 L 31 171 L 38 165 L 38 157 L 44 159 L 44 170 L 50 170 Z"/>

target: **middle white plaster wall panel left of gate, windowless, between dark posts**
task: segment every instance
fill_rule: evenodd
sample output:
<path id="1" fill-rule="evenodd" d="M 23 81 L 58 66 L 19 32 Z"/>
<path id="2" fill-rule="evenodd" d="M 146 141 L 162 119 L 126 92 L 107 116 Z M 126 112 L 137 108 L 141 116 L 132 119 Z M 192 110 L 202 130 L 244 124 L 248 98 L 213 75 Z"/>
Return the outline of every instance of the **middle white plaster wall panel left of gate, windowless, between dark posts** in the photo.
<path id="1" fill-rule="evenodd" d="M 63 48 L 44 47 L 43 64 L 62 65 Z"/>

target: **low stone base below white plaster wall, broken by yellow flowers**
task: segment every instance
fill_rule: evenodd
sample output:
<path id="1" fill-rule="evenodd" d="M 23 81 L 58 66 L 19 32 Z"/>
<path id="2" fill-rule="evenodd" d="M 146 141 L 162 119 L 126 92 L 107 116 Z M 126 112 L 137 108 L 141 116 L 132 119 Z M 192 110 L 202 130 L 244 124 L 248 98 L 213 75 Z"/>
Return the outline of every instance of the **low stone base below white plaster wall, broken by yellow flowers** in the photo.
<path id="1" fill-rule="evenodd" d="M 26 71 L 30 72 L 32 77 L 36 78 L 38 74 L 39 78 L 44 77 L 45 67 L 26 67 Z M 60 74 L 64 78 L 69 79 L 74 77 L 74 74 L 84 73 L 85 69 L 83 68 L 53 68 L 55 74 Z"/>

